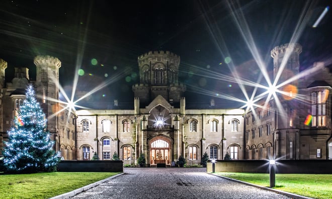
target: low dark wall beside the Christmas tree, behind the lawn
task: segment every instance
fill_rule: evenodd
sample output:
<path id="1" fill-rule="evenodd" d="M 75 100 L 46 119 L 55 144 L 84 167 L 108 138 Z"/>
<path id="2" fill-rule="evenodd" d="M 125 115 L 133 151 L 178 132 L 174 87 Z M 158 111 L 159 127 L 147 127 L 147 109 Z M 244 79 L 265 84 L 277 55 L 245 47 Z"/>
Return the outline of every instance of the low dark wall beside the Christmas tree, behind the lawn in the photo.
<path id="1" fill-rule="evenodd" d="M 123 172 L 121 160 L 62 160 L 57 170 L 61 172 Z"/>

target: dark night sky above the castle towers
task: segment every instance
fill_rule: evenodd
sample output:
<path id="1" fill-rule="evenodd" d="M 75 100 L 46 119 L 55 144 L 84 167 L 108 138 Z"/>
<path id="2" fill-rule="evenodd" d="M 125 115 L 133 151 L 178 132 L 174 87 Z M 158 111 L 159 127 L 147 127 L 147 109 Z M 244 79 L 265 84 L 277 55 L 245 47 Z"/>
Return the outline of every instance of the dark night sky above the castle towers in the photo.
<path id="1" fill-rule="evenodd" d="M 28 67 L 30 79 L 35 79 L 35 56 L 57 57 L 62 62 L 60 84 L 68 96 L 80 68 L 85 74 L 79 76 L 77 96 L 110 83 L 82 104 L 111 108 L 118 99 L 123 107 L 133 108 L 131 86 L 139 81 L 137 57 L 149 51 L 171 51 L 181 57 L 179 79 L 187 85 L 189 104 L 208 105 L 213 98 L 216 106 L 237 108 L 242 104 L 220 96 L 244 100 L 244 95 L 235 82 L 222 77 L 236 71 L 242 78 L 258 81 L 260 69 L 250 52 L 254 44 L 272 71 L 270 51 L 289 43 L 297 30 L 296 41 L 303 46 L 301 70 L 316 61 L 330 64 L 330 11 L 312 27 L 327 6 L 330 1 L 2 0 L 0 58 L 8 62 L 9 82 L 14 67 Z M 240 16 L 239 26 L 233 16 Z M 254 43 L 247 45 L 243 38 L 250 36 Z M 250 93 L 253 87 L 246 89 Z"/>

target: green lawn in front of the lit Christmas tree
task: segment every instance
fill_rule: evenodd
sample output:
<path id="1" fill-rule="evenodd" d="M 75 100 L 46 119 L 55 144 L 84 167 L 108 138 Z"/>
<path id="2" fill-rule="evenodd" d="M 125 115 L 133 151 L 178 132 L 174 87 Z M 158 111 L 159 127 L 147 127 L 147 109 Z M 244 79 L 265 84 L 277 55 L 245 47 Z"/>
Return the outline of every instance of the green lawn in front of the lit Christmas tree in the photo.
<path id="1" fill-rule="evenodd" d="M 0 198 L 49 198 L 119 172 L 0 173 Z"/>

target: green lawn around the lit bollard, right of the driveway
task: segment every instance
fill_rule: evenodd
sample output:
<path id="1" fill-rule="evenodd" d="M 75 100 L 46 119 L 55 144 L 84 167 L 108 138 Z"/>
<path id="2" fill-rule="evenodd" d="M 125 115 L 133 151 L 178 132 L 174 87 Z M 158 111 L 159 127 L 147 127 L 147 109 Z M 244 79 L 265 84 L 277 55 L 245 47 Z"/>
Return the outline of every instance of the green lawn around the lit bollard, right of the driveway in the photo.
<path id="1" fill-rule="evenodd" d="M 215 174 L 270 186 L 268 173 L 216 172 Z M 313 198 L 332 198 L 332 174 L 276 174 L 276 186 L 273 188 Z"/>

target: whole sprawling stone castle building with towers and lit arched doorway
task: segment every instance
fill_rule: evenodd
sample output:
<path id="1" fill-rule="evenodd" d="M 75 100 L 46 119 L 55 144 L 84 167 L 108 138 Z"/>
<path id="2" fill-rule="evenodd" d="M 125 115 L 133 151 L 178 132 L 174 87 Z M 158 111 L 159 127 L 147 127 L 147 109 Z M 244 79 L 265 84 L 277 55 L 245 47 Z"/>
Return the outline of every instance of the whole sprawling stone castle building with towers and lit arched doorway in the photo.
<path id="1" fill-rule="evenodd" d="M 273 49 L 274 78 L 282 83 L 299 75 L 301 51 L 298 44 Z M 7 62 L 0 59 L 0 144 L 8 139 L 7 131 L 25 98 L 27 85 L 33 84 L 48 118 L 47 130 L 55 140 L 54 149 L 66 160 L 90 160 L 94 153 L 109 160 L 116 152 L 125 164 L 135 164 L 142 153 L 146 164 L 154 166 L 172 165 L 180 155 L 187 164 L 199 164 L 205 152 L 211 159 L 223 159 L 226 153 L 232 159 L 332 156 L 332 79 L 322 63 L 314 66 L 322 75 L 301 76 L 283 85 L 282 95 L 260 101 L 261 106 L 247 113 L 244 109 L 216 107 L 213 101 L 209 108 L 187 109 L 186 86 L 179 82 L 180 57 L 169 51 L 138 57 L 139 83 L 132 86 L 132 109 L 69 112 L 57 101 L 61 62 L 54 57 L 37 56 L 34 64 L 36 81 L 29 80 L 27 68 L 15 68 L 12 82 L 5 84 Z M 279 77 L 281 68 L 287 72 Z M 307 115 L 312 116 L 310 125 L 304 124 Z"/>

